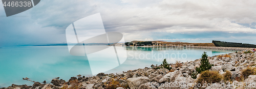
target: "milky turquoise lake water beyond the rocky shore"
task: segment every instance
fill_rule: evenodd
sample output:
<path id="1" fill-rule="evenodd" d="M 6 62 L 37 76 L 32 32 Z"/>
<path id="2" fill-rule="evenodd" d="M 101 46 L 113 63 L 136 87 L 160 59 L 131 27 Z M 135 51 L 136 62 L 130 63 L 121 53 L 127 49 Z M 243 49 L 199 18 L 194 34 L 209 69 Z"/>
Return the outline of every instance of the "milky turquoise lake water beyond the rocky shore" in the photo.
<path id="1" fill-rule="evenodd" d="M 201 57 L 204 51 L 208 56 L 231 53 L 234 51 L 193 49 L 193 48 L 161 48 L 161 47 L 117 47 L 126 51 L 127 59 L 120 66 L 106 70 L 104 73 L 121 73 L 122 71 L 160 65 L 164 58 L 168 63 L 175 61 L 194 61 Z M 104 59 L 105 55 L 95 55 Z M 98 60 L 100 62 L 100 60 Z M 50 83 L 55 77 L 68 81 L 78 74 L 93 76 L 89 61 L 84 56 L 73 56 L 67 46 L 28 46 L 0 48 L 0 87 L 11 84 L 32 85 L 30 80 Z"/>

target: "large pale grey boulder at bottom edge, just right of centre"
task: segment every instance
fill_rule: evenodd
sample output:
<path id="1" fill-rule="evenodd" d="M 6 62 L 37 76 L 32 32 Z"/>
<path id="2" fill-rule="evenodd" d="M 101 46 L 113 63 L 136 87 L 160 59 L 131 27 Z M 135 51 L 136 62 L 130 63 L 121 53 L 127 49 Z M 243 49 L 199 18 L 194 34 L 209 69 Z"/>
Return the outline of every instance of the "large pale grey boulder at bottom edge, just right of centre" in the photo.
<path id="1" fill-rule="evenodd" d="M 149 82 L 147 77 L 128 78 L 127 83 L 131 89 L 137 89 L 141 84 Z"/>

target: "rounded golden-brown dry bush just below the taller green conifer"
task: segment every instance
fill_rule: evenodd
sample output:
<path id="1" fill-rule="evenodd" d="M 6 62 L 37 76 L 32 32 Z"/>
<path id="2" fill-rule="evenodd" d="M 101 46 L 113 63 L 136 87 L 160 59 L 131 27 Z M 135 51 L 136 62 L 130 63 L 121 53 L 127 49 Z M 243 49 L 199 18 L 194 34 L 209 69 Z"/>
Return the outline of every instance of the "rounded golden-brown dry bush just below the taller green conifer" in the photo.
<path id="1" fill-rule="evenodd" d="M 220 82 L 222 79 L 222 76 L 218 73 L 218 71 L 204 71 L 201 73 L 200 77 L 198 78 L 197 83 L 215 83 Z"/>

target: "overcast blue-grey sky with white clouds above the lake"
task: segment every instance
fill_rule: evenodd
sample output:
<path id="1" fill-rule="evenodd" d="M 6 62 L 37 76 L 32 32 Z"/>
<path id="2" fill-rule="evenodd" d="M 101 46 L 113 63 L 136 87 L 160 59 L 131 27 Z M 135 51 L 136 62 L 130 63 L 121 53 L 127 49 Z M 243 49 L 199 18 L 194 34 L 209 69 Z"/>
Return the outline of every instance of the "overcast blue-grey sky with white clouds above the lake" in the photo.
<path id="1" fill-rule="evenodd" d="M 60 1 L 42 0 L 35 7 L 6 17 L 0 7 L 0 47 L 66 43 L 66 28 L 96 13 L 106 32 L 125 41 L 221 40 L 256 44 L 256 1 Z"/>

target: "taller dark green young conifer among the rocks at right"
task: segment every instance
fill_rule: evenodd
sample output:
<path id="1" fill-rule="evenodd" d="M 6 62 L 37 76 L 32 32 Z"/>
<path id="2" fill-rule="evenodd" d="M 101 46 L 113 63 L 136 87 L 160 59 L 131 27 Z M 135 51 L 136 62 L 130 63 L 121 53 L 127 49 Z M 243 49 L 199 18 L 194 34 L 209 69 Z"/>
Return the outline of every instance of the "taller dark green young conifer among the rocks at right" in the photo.
<path id="1" fill-rule="evenodd" d="M 206 52 L 204 52 L 202 54 L 202 59 L 201 59 L 201 66 L 199 68 L 196 68 L 196 71 L 198 73 L 201 73 L 203 71 L 209 70 L 211 68 L 211 66 L 214 66 L 212 64 L 209 63 L 209 60 L 207 59 L 208 55 L 206 54 Z"/>

